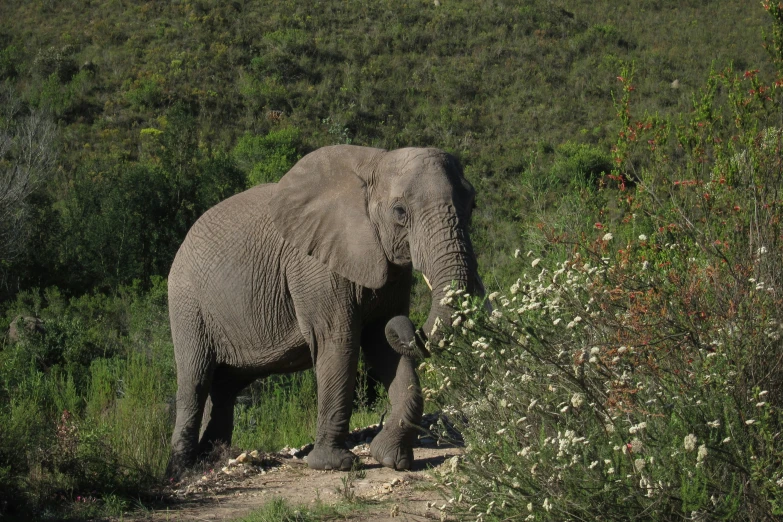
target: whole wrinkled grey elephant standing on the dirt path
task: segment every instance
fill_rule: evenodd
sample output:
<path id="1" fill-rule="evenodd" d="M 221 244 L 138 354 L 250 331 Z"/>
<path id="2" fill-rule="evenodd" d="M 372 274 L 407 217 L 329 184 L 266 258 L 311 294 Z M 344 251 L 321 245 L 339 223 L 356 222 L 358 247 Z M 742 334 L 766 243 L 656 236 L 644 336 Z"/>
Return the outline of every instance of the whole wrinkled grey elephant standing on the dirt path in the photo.
<path id="1" fill-rule="evenodd" d="M 468 237 L 474 194 L 437 149 L 338 145 L 207 211 L 169 274 L 178 389 L 168 476 L 231 441 L 245 386 L 311 367 L 318 423 L 308 464 L 350 469 L 360 346 L 392 405 L 371 453 L 408 469 L 423 404 L 414 357 L 424 355 L 407 318 L 412 270 L 433 283 L 426 333 L 437 318 L 451 321 L 440 301 L 452 282 L 483 293 Z"/>

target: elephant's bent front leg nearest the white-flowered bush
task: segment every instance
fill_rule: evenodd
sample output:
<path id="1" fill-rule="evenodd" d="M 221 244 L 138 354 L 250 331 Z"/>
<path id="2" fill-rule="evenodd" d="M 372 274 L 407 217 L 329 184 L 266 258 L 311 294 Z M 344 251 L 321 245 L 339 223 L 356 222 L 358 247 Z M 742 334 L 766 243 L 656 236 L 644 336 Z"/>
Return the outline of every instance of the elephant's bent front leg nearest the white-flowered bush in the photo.
<path id="1" fill-rule="evenodd" d="M 383 330 L 374 332 L 370 338 L 372 346 L 366 347 L 365 356 L 388 390 L 392 407 L 383 429 L 370 444 L 370 453 L 386 467 L 409 469 L 413 465 L 416 427 L 424 412 L 414 361 L 395 353 L 383 338 Z"/>

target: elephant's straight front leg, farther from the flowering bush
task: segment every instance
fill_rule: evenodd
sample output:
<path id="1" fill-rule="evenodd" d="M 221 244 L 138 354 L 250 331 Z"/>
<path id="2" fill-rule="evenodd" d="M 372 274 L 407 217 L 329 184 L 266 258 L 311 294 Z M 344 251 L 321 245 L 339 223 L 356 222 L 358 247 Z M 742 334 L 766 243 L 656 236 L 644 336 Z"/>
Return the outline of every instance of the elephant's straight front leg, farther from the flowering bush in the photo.
<path id="1" fill-rule="evenodd" d="M 359 360 L 358 343 L 349 340 L 326 343 L 316 353 L 318 428 L 307 464 L 313 469 L 348 471 L 358 461 L 345 443 Z"/>

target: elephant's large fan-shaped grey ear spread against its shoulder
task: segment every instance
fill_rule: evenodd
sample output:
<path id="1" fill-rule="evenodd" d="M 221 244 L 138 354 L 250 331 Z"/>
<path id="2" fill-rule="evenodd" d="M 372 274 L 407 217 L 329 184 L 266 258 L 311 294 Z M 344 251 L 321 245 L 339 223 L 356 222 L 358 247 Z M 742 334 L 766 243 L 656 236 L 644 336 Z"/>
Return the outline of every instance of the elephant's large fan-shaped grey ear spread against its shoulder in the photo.
<path id="1" fill-rule="evenodd" d="M 367 180 L 381 149 L 337 145 L 299 160 L 277 184 L 272 221 L 287 242 L 367 288 L 389 264 L 367 211 Z"/>

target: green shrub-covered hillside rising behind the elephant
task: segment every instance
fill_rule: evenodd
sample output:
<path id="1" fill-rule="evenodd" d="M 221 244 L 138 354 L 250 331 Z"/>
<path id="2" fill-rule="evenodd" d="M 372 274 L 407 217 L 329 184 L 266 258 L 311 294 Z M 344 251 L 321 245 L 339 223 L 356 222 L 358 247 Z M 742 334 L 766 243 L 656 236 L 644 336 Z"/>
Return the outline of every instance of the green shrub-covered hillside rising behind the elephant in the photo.
<path id="1" fill-rule="evenodd" d="M 520 243 L 504 224 L 529 224 L 531 186 L 555 186 L 548 207 L 579 151 L 605 168 L 623 63 L 636 63 L 639 110 L 687 112 L 713 64 L 765 63 L 768 23 L 747 2 L 673 1 L 3 2 L 0 17 L 14 21 L 0 29 L 0 78 L 16 117 L 50 115 L 60 153 L 28 225 L 38 248 L 4 270 L 6 294 L 165 275 L 170 245 L 205 208 L 333 143 L 457 154 L 482 199 L 483 269 L 502 273 L 498 254 Z M 156 174 L 166 179 L 150 197 L 174 215 L 128 194 Z M 195 201 L 170 201 L 182 185 Z M 111 198 L 116 220 L 140 214 L 134 228 L 166 236 L 137 238 L 144 259 L 131 266 L 105 237 Z"/>

